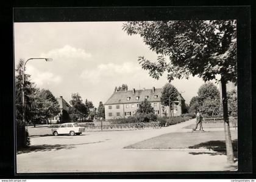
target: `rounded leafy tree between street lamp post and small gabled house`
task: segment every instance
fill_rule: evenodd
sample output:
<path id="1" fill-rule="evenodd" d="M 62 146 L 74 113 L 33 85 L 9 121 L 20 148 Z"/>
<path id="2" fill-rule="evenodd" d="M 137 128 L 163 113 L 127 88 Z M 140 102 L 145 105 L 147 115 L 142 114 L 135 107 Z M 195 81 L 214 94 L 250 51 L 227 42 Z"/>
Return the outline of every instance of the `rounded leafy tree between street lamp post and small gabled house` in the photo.
<path id="1" fill-rule="evenodd" d="M 35 94 L 34 103 L 32 105 L 35 116 L 39 121 L 44 120 L 48 123 L 49 118 L 52 118 L 60 113 L 59 103 L 54 95 L 52 95 L 50 90 L 41 89 L 38 91 Z"/>

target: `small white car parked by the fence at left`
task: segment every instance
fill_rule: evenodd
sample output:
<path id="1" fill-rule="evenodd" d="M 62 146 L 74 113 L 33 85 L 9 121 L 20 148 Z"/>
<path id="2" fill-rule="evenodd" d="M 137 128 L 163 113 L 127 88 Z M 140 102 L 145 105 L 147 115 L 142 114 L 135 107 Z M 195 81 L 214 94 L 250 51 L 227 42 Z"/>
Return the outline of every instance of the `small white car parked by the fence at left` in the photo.
<path id="1" fill-rule="evenodd" d="M 85 131 L 84 127 L 80 127 L 77 123 L 63 123 L 59 127 L 52 129 L 52 134 L 54 136 L 69 134 L 71 136 L 80 135 Z"/>

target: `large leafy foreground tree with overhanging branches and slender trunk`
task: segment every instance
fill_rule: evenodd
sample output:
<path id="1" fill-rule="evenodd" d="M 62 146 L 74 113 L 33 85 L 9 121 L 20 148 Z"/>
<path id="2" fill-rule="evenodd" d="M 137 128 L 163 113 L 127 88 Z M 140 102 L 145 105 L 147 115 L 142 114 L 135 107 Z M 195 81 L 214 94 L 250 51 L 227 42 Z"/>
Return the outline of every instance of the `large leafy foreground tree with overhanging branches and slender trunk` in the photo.
<path id="1" fill-rule="evenodd" d="M 236 83 L 236 21 L 133 21 L 126 22 L 123 30 L 128 35 L 140 35 L 152 51 L 160 54 L 157 62 L 138 58 L 152 78 L 159 79 L 166 71 L 169 81 L 190 75 L 221 81 L 227 161 L 233 163 L 226 84 Z"/>

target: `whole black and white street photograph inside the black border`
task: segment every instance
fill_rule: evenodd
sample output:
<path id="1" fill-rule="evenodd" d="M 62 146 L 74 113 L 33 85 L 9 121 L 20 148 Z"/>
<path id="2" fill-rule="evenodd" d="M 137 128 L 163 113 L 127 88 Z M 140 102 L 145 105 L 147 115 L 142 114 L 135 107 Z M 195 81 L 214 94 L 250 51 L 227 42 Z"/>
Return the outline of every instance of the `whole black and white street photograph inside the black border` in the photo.
<path id="1" fill-rule="evenodd" d="M 236 19 L 14 22 L 16 173 L 238 170 Z"/>

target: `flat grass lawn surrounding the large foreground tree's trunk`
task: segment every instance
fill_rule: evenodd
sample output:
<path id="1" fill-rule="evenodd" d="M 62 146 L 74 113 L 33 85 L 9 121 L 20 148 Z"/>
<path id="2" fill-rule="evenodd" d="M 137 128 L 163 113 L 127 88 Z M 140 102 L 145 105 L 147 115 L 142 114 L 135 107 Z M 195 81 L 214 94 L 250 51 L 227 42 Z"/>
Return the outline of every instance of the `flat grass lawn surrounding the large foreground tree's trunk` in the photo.
<path id="1" fill-rule="evenodd" d="M 237 130 L 231 130 L 233 149 L 237 149 Z M 224 131 L 179 132 L 149 138 L 125 149 L 225 149 Z"/>

